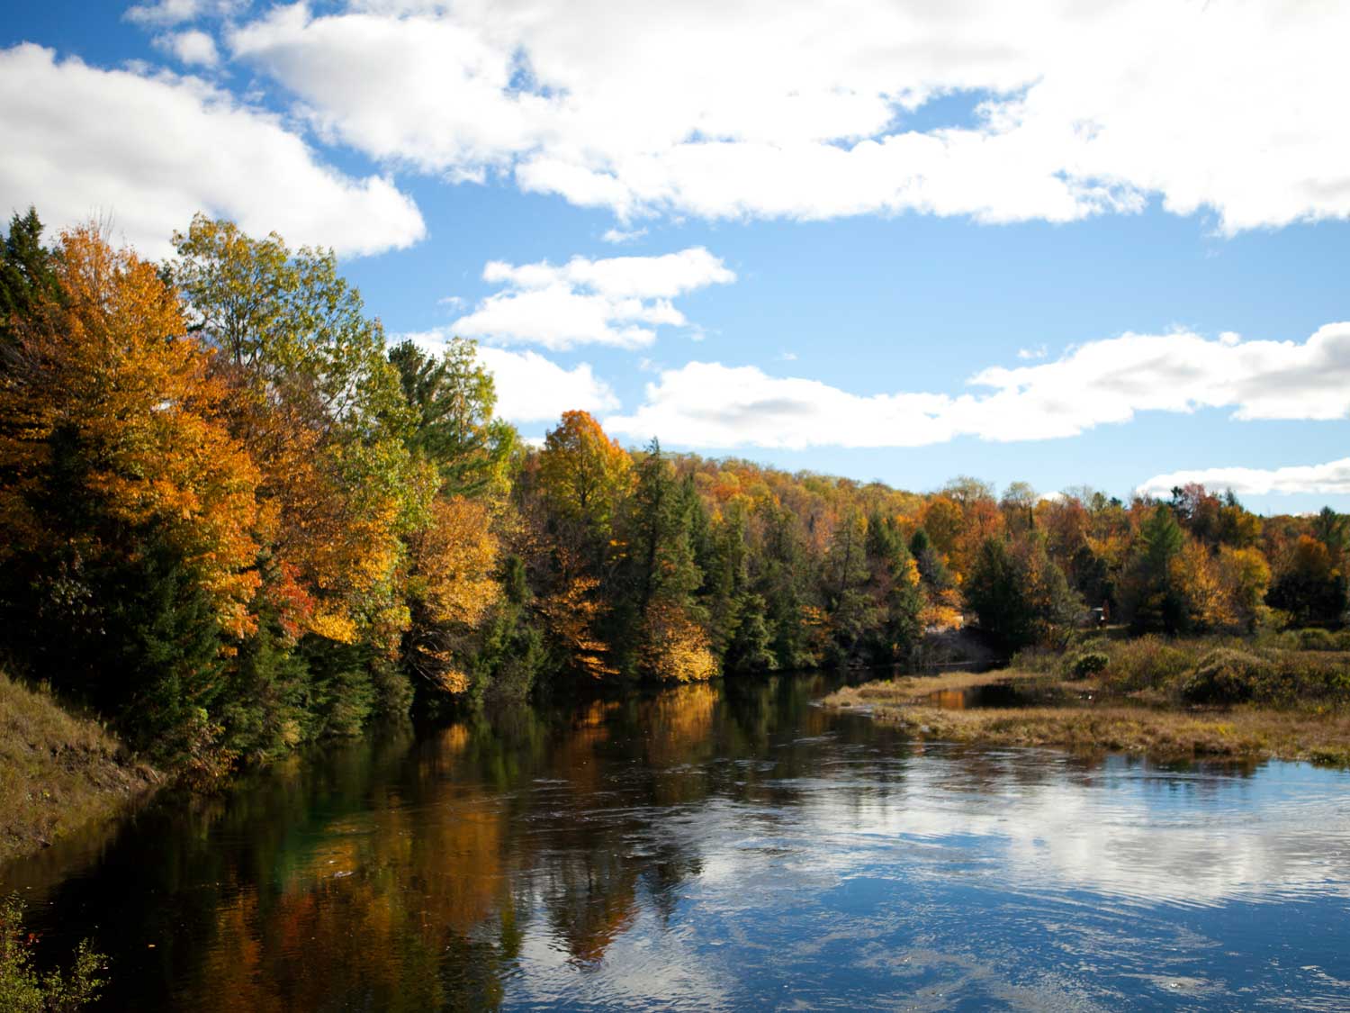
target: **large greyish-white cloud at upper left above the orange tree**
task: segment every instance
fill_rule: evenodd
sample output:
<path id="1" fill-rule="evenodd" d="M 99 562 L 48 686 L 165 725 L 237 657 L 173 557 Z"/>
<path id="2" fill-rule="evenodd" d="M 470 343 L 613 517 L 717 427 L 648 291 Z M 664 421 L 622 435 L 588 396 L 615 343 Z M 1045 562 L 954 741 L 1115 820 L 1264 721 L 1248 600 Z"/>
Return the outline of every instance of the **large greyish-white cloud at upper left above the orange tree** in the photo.
<path id="1" fill-rule="evenodd" d="M 277 118 L 193 77 L 57 62 L 26 43 L 0 50 L 0 93 L 3 213 L 34 204 L 54 227 L 111 217 L 150 257 L 197 211 L 340 254 L 425 234 L 387 178 L 324 166 Z"/>

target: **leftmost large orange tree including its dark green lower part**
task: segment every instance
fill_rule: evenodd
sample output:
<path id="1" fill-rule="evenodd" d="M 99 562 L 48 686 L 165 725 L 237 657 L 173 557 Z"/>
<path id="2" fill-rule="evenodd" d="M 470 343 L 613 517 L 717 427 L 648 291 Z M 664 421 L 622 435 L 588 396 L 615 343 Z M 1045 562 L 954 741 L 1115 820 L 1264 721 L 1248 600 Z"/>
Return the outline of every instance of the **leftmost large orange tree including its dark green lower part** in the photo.
<path id="1" fill-rule="evenodd" d="M 0 385 L 7 619 L 146 742 L 197 720 L 255 629 L 259 473 L 153 265 L 80 228 L 55 278 Z"/>

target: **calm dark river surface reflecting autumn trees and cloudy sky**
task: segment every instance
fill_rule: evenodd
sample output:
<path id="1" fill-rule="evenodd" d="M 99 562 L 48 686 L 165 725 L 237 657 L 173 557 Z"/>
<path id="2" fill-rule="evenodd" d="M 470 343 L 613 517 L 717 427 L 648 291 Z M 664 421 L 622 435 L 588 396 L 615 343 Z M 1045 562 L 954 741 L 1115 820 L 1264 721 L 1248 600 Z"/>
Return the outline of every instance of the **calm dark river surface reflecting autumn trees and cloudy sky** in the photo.
<path id="1" fill-rule="evenodd" d="M 910 743 L 826 689 L 392 729 L 4 881 L 112 1009 L 1350 1004 L 1346 774 Z"/>

